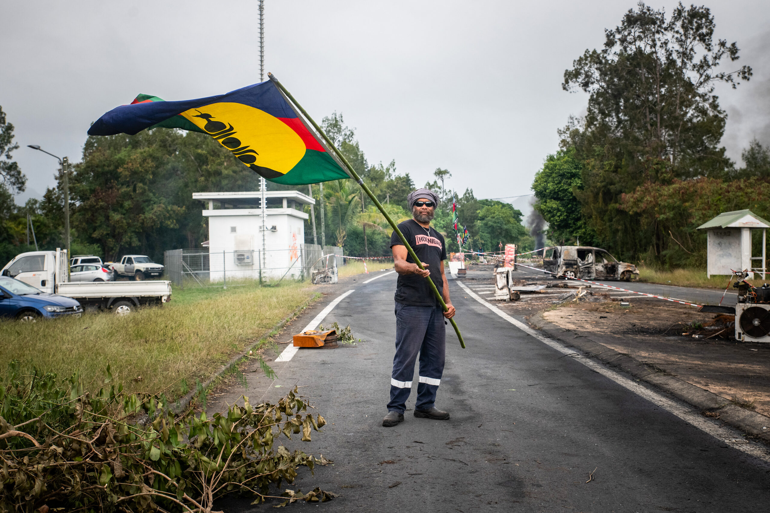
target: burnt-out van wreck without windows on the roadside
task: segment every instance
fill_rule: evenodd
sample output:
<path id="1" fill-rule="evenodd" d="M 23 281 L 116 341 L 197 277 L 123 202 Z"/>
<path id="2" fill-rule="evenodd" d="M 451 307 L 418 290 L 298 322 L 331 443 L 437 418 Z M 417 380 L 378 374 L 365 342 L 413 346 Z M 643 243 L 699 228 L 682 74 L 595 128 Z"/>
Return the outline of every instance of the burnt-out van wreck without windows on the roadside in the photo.
<path id="1" fill-rule="evenodd" d="M 543 269 L 557 278 L 633 281 L 639 270 L 619 262 L 607 250 L 590 246 L 550 246 L 543 249 Z"/>

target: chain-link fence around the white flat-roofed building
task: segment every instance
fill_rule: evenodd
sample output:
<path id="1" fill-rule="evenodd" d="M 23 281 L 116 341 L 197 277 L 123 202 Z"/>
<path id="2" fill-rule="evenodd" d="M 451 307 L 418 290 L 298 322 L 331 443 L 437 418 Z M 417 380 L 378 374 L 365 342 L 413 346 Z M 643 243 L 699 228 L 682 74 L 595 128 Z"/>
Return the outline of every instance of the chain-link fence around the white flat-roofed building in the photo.
<path id="1" fill-rule="evenodd" d="M 333 255 L 330 256 L 330 255 Z M 286 250 L 168 250 L 166 276 L 179 287 L 227 287 L 244 280 L 309 280 L 314 270 L 344 265 L 339 246 L 301 244 Z"/>

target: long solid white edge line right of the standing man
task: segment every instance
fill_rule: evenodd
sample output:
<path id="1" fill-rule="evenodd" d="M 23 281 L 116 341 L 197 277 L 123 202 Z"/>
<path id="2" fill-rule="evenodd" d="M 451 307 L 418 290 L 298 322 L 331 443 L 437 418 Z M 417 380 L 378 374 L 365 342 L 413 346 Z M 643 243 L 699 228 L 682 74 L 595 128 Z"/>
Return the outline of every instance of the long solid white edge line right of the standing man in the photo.
<path id="1" fill-rule="evenodd" d="M 544 337 L 543 335 L 537 333 L 537 330 L 533 330 L 531 327 L 528 327 L 526 324 L 522 323 L 521 321 L 514 319 L 510 315 L 506 314 L 503 310 L 500 310 L 499 308 L 495 307 L 493 304 L 487 303 L 486 300 L 484 300 L 481 297 L 478 297 L 475 293 L 473 293 L 465 285 L 465 283 L 458 281 L 457 284 L 460 285 L 460 287 L 463 287 L 465 292 L 470 297 L 473 297 L 474 300 L 477 300 L 479 303 L 483 304 L 485 307 L 492 310 L 495 314 L 499 315 L 504 320 L 507 320 L 509 323 L 513 324 L 515 327 L 524 331 L 524 333 L 537 338 L 537 340 L 540 340 L 543 344 L 553 347 L 555 350 L 559 351 L 560 353 L 574 354 L 575 352 L 574 349 L 568 348 L 563 344 L 560 344 L 556 340 Z M 698 414 L 697 412 L 692 411 L 691 408 L 683 407 L 680 404 L 677 404 L 675 401 L 671 401 L 671 399 L 668 399 L 668 397 L 664 397 L 661 394 L 658 394 L 657 392 L 651 391 L 648 388 L 641 386 L 641 384 L 631 381 L 630 379 L 628 379 L 628 377 L 624 377 L 621 374 L 618 374 L 618 372 L 611 371 L 610 369 L 604 367 L 604 365 L 598 364 L 594 360 L 589 360 L 588 358 L 581 358 L 579 360 L 576 359 L 575 361 L 579 361 L 581 364 L 584 364 L 586 367 L 590 368 L 592 371 L 596 371 L 602 376 L 608 377 L 609 379 L 621 385 L 622 387 L 628 388 L 629 391 L 634 392 L 634 394 L 637 394 L 638 396 L 644 397 L 644 399 L 647 399 L 652 404 L 656 404 L 659 407 L 665 409 L 666 411 L 672 414 L 675 414 L 677 417 L 681 418 L 681 420 L 687 422 L 688 424 L 691 424 L 692 426 L 695 426 L 695 428 L 698 428 L 707 434 L 710 434 L 712 437 L 717 438 L 719 441 L 722 441 L 725 444 L 729 444 L 730 447 L 739 449 L 740 451 L 743 451 L 747 454 L 751 454 L 752 456 L 755 456 L 755 458 L 759 458 L 763 461 L 770 462 L 770 451 L 768 451 L 767 449 L 757 444 L 746 443 L 743 440 L 739 440 L 738 438 L 735 438 L 735 434 L 733 434 L 731 431 L 725 428 L 720 428 L 716 424 L 711 423 L 711 421 L 708 421 L 705 418 L 701 417 L 700 414 Z M 738 440 L 741 441 L 742 443 L 735 443 Z"/>

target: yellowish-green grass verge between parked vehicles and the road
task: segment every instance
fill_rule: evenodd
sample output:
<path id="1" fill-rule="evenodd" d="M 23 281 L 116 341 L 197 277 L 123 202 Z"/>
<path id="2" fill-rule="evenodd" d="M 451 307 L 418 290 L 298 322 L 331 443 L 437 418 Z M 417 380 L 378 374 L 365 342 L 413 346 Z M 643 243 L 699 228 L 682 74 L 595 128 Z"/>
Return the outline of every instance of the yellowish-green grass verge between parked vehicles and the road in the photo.
<path id="1" fill-rule="evenodd" d="M 59 379 L 79 371 L 85 389 L 95 391 L 109 364 L 115 382 L 129 392 L 162 393 L 173 401 L 314 295 L 313 287 L 296 282 L 188 287 L 174 290 L 162 307 L 143 307 L 126 317 L 0 321 L 0 374 L 19 360 Z"/>

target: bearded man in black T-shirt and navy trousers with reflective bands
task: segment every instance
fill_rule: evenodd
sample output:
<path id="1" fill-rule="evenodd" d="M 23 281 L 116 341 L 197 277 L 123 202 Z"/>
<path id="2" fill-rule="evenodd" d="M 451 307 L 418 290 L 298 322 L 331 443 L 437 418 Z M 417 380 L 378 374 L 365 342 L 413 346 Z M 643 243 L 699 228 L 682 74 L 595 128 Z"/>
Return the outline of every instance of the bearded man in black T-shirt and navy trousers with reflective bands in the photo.
<path id="1" fill-rule="evenodd" d="M 396 355 L 393 357 L 393 374 L 390 377 L 390 402 L 383 426 L 390 428 L 403 421 L 414 377 L 414 361 L 420 354 L 420 383 L 417 385 L 417 403 L 414 416 L 437 421 L 449 419 L 446 411 L 440 411 L 436 393 L 444 373 L 446 351 L 446 321 L 454 317 L 454 307 L 449 298 L 449 286 L 444 274 L 447 247 L 444 237 L 430 226 L 438 205 L 438 196 L 428 189 L 417 189 L 407 197 L 412 207 L 413 219 L 398 225 L 407 243 L 413 247 L 417 258 L 426 269 L 414 262 L 400 236 L 394 231 L 390 238 L 393 261 L 398 282 L 396 285 Z M 437 287 L 447 311 L 430 290 L 426 278 Z"/>

